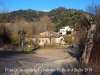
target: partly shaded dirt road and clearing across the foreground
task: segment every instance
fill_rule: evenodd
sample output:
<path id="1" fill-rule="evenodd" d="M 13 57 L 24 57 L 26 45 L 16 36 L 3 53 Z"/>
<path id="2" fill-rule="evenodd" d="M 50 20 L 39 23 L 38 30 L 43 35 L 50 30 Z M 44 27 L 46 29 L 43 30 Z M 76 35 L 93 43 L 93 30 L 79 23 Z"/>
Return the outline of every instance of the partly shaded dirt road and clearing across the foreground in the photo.
<path id="1" fill-rule="evenodd" d="M 19 75 L 19 72 L 23 75 L 67 75 L 65 69 L 79 67 L 76 58 L 67 51 L 70 50 L 36 50 L 31 53 L 1 51 L 0 75 Z"/>

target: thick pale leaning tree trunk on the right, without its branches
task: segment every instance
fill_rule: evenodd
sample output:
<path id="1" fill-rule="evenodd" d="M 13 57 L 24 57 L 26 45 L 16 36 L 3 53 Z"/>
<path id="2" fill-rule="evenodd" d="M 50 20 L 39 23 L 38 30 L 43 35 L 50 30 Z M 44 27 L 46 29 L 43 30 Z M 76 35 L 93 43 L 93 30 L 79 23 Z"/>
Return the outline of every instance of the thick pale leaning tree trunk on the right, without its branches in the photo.
<path id="1" fill-rule="evenodd" d="M 82 65 L 88 65 L 88 63 L 89 63 L 91 50 L 93 48 L 93 35 L 94 35 L 93 32 L 95 29 L 96 29 L 96 24 L 91 24 L 90 29 L 88 30 L 88 33 L 87 33 L 85 50 L 84 50 L 82 58 L 81 58 Z"/>

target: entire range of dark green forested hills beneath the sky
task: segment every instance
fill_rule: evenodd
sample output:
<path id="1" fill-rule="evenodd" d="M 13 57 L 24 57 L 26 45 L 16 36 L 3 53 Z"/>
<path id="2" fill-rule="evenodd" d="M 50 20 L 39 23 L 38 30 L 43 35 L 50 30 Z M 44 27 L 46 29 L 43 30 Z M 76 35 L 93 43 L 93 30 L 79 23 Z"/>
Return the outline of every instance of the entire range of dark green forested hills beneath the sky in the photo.
<path id="1" fill-rule="evenodd" d="M 78 24 L 80 18 L 84 15 L 84 13 L 85 12 L 82 10 L 67 9 L 64 7 L 52 9 L 49 12 L 36 11 L 32 9 L 18 10 L 8 13 L 1 13 L 0 22 L 14 23 L 19 18 L 23 18 L 27 22 L 38 22 L 42 16 L 48 15 L 54 23 L 55 31 L 58 31 L 59 28 L 67 25 L 75 27 L 75 25 Z"/>

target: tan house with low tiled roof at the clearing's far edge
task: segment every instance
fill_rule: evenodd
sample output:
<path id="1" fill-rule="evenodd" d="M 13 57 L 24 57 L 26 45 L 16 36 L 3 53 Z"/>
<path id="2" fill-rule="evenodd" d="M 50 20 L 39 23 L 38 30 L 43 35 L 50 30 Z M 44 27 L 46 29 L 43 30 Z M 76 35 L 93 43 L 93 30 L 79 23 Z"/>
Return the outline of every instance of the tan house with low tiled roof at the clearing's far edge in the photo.
<path id="1" fill-rule="evenodd" d="M 37 39 L 38 45 L 42 47 L 62 45 L 65 43 L 62 35 L 56 32 L 52 32 L 52 31 L 40 33 L 36 37 L 36 39 Z"/>

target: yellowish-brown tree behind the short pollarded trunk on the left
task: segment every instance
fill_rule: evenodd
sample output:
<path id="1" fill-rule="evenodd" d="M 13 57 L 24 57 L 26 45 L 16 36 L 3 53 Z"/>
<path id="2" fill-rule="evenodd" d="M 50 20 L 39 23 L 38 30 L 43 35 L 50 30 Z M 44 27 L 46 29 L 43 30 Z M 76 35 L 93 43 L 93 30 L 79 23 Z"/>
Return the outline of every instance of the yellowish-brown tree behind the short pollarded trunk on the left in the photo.
<path id="1" fill-rule="evenodd" d="M 11 38 L 12 38 L 12 43 L 19 43 L 18 39 L 18 32 L 19 31 L 25 31 L 25 37 L 26 38 L 31 38 L 33 36 L 33 30 L 32 30 L 32 24 L 26 22 L 23 18 L 18 18 L 13 25 L 11 24 L 9 26 L 9 29 L 11 30 Z"/>

